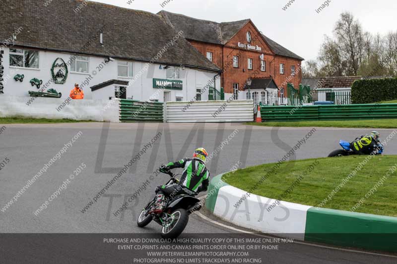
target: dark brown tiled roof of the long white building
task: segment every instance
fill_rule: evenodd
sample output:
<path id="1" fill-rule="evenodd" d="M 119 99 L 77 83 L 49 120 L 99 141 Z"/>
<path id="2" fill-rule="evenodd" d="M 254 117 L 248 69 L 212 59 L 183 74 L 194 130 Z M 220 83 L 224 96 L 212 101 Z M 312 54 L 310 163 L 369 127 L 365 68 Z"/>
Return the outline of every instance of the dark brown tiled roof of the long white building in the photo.
<path id="1" fill-rule="evenodd" d="M 150 61 L 168 43 L 155 62 L 220 70 L 183 37 L 170 45 L 177 32 L 159 15 L 92 1 L 48 2 L 45 6 L 38 0 L 2 0 L 0 42 L 21 28 L 17 46 L 141 61 Z"/>

